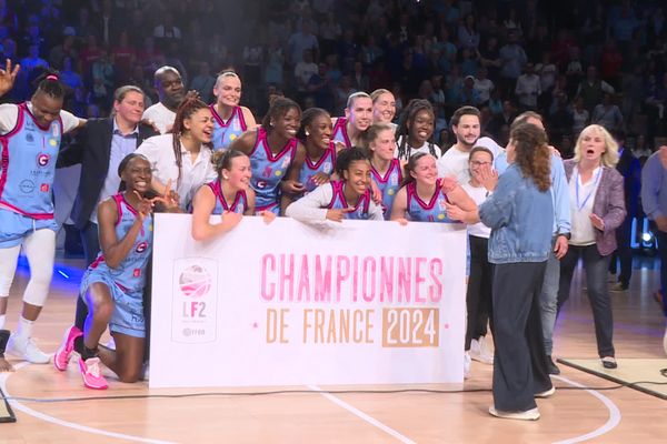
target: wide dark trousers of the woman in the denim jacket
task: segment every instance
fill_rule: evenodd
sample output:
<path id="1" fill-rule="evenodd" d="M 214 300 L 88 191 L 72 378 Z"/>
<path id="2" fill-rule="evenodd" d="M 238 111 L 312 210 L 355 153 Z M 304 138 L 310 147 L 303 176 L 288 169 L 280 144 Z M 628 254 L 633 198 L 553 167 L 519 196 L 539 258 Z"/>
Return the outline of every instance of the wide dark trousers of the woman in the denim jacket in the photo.
<path id="1" fill-rule="evenodd" d="M 535 394 L 551 389 L 539 297 L 547 262 L 494 266 L 494 405 L 535 408 Z"/>

